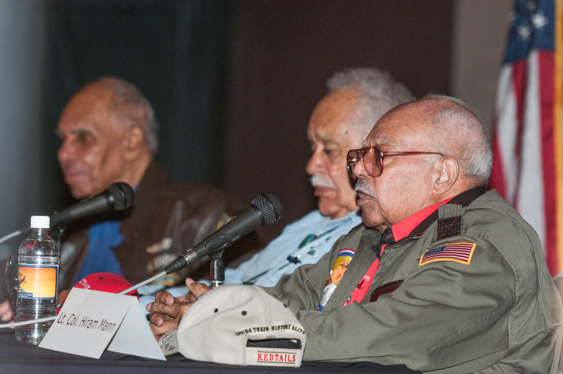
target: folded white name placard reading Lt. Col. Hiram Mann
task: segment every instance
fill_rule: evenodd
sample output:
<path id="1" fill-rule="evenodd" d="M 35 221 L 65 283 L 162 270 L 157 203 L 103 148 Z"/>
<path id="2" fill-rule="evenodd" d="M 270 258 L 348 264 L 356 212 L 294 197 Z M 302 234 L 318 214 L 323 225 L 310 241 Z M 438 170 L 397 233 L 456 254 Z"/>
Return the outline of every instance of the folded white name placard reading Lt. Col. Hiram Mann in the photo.
<path id="1" fill-rule="evenodd" d="M 42 348 L 100 358 L 108 350 L 166 360 L 135 296 L 73 288 Z"/>

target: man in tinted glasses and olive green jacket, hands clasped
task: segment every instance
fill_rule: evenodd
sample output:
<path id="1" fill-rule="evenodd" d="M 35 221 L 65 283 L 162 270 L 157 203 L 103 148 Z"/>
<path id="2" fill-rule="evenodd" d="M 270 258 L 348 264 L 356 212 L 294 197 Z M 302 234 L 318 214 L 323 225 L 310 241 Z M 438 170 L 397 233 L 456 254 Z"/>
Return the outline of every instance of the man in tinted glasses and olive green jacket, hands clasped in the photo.
<path id="1" fill-rule="evenodd" d="M 266 288 L 303 325 L 304 360 L 557 373 L 561 298 L 538 235 L 485 192 L 491 160 L 480 119 L 436 95 L 391 109 L 364 148 L 348 152 L 364 225 Z M 175 327 L 208 291 L 186 283 L 186 296 L 157 293 L 154 333 Z"/>

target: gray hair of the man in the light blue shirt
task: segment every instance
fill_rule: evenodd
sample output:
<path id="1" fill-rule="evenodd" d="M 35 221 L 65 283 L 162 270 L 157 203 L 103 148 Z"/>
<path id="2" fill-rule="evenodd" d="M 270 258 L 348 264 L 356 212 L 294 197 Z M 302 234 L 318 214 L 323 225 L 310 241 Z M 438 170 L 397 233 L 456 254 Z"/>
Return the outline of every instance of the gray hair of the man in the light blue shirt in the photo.
<path id="1" fill-rule="evenodd" d="M 377 68 L 352 68 L 335 73 L 327 82 L 330 91 L 348 88 L 359 93 L 355 122 L 371 130 L 383 114 L 415 99 L 390 73 Z"/>

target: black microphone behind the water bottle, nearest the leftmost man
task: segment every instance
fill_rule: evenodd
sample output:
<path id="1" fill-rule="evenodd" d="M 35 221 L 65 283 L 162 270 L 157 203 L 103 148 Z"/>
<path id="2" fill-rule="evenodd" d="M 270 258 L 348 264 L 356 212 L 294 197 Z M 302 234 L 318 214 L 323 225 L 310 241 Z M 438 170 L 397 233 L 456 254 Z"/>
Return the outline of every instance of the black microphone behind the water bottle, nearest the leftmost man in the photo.
<path id="1" fill-rule="evenodd" d="M 106 211 L 126 210 L 133 203 L 135 194 L 127 183 L 112 183 L 104 192 L 83 199 L 60 212 L 50 216 L 51 231 L 64 228 L 70 222 Z"/>

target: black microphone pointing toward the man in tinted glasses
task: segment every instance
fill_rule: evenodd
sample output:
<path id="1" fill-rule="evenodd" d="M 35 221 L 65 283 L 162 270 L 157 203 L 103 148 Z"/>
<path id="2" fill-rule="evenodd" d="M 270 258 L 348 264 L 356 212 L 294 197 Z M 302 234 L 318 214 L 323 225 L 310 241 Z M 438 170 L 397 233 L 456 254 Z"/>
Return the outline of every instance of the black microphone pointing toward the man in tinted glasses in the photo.
<path id="1" fill-rule="evenodd" d="M 184 269 L 195 260 L 224 250 L 234 241 L 260 226 L 278 222 L 282 215 L 283 204 L 278 196 L 272 193 L 260 194 L 254 198 L 250 207 L 203 239 L 203 241 L 195 244 L 187 253 L 172 261 L 164 268 L 164 271 L 166 271 L 166 274 L 171 274 Z"/>

